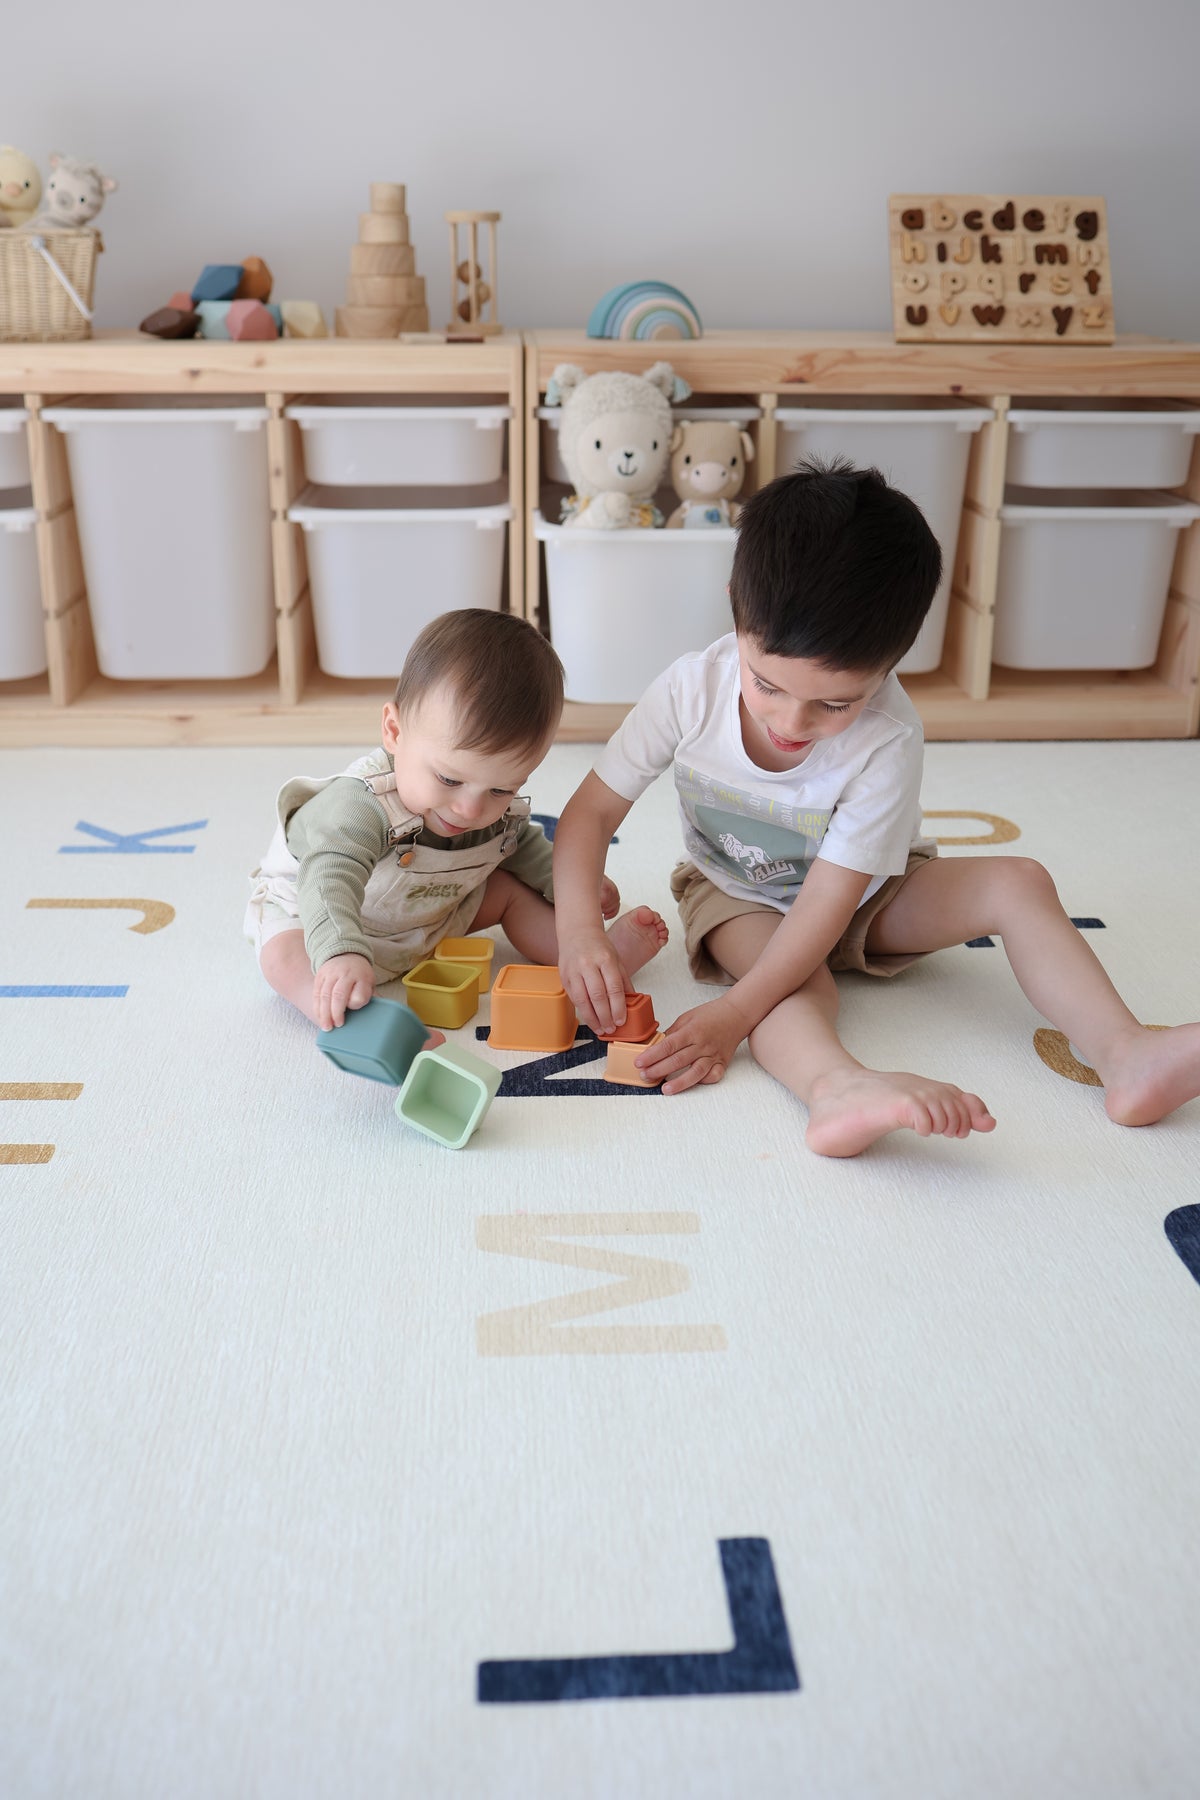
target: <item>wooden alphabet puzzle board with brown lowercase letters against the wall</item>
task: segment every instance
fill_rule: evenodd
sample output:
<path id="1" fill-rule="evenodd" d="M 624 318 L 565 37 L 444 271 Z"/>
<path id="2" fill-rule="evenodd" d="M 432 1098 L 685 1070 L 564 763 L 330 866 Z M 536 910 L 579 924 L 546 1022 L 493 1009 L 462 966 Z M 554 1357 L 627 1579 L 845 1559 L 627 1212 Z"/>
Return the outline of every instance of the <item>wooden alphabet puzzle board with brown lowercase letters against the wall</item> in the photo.
<path id="1" fill-rule="evenodd" d="M 905 344 L 1112 344 L 1105 202 L 892 194 L 892 328 Z"/>

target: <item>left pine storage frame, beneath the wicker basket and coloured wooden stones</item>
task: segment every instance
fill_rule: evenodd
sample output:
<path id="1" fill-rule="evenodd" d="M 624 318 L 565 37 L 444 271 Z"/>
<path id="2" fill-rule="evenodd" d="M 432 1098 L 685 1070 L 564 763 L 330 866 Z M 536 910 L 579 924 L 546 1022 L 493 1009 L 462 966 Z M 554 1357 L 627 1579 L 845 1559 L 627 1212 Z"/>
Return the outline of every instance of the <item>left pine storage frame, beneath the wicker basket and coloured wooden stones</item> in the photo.
<path id="1" fill-rule="evenodd" d="M 380 725 L 396 671 L 336 680 L 317 666 L 304 533 L 288 506 L 304 488 L 300 428 L 284 409 L 306 394 L 479 396 L 513 409 L 507 439 L 509 605 L 524 596 L 522 340 L 482 344 L 282 338 L 160 342 L 137 331 L 83 344 L 2 344 L 0 394 L 29 407 L 29 445 L 49 673 L 0 680 L 0 743 L 358 743 Z M 41 409 L 74 394 L 245 394 L 264 401 L 275 657 L 246 680 L 108 680 L 97 673 L 70 472 Z M 390 680 L 389 680 L 390 675 Z"/>

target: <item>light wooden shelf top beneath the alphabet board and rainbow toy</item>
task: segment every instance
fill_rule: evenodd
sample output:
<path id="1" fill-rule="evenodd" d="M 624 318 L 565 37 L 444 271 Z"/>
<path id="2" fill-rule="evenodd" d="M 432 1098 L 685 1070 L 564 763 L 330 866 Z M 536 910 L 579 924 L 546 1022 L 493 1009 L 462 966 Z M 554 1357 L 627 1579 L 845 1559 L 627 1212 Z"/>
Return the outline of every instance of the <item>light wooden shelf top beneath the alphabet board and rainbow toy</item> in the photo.
<path id="1" fill-rule="evenodd" d="M 887 331 L 709 331 L 630 342 L 527 331 L 538 391 L 558 362 L 644 369 L 664 358 L 693 387 L 752 394 L 1135 394 L 1200 398 L 1200 344 L 898 344 Z"/>

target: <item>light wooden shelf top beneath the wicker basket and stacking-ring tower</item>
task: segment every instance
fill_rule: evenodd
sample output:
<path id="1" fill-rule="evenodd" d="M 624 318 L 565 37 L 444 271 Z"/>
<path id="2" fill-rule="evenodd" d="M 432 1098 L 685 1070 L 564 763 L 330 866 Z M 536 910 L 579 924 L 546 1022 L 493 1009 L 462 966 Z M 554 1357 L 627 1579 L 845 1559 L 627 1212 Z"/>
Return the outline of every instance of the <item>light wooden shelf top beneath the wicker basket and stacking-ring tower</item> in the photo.
<path id="1" fill-rule="evenodd" d="M 511 392 L 522 340 L 480 344 L 399 338 L 151 338 L 97 331 L 79 344 L 0 344 L 4 394 Z"/>

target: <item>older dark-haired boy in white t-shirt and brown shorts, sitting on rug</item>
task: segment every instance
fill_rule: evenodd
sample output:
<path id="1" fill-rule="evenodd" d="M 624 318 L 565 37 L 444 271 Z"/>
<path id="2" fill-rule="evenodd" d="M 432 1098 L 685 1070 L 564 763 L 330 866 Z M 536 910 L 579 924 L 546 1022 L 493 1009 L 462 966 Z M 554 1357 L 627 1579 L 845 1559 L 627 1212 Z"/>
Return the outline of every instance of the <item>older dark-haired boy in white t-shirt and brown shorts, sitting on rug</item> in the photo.
<path id="1" fill-rule="evenodd" d="M 1083 1051 L 1108 1116 L 1146 1125 L 1200 1093 L 1200 1024 L 1142 1028 L 1025 857 L 946 857 L 921 839 L 921 724 L 892 673 L 941 574 L 918 508 L 876 470 L 806 464 L 741 517 L 734 632 L 655 680 L 572 796 L 554 841 L 560 968 L 585 1022 L 624 1019 L 596 875 L 613 830 L 671 765 L 689 862 L 671 889 L 693 974 L 730 983 L 639 1064 L 675 1094 L 738 1044 L 808 1107 L 806 1141 L 856 1156 L 896 1129 L 964 1138 L 979 1094 L 867 1069 L 835 1031 L 833 970 L 892 976 L 995 934 L 1033 1004 Z"/>

